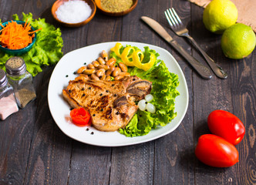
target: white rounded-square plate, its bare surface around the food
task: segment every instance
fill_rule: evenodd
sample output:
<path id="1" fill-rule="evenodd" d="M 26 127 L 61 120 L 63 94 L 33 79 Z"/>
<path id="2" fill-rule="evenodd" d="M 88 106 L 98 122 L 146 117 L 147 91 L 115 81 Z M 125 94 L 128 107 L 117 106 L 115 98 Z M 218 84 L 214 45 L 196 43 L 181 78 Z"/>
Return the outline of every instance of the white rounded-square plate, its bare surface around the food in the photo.
<path id="1" fill-rule="evenodd" d="M 173 130 L 180 125 L 182 119 L 184 119 L 188 106 L 187 83 L 184 74 L 177 61 L 173 58 L 173 55 L 170 55 L 170 52 L 167 52 L 167 50 L 155 45 L 138 42 L 120 43 L 123 45 L 137 46 L 142 51 L 144 51 L 144 46 L 149 46 L 150 49 L 154 49 L 160 54 L 158 59 L 162 59 L 166 63 L 170 72 L 174 72 L 179 76 L 180 85 L 177 87 L 177 90 L 180 92 L 180 96 L 177 96 L 175 103 L 175 112 L 177 112 L 177 116 L 171 121 L 171 123 L 168 123 L 167 126 L 152 130 L 146 136 L 136 136 L 132 138 L 126 137 L 117 131 L 101 132 L 91 126 L 80 127 L 74 125 L 69 118 L 70 106 L 62 98 L 62 89 L 68 86 L 69 80 L 76 78 L 77 75 L 74 75 L 73 72 L 79 69 L 79 67 L 84 66 L 85 62 L 88 64 L 97 59 L 103 50 L 109 52 L 110 49 L 116 45 L 116 42 L 89 45 L 64 55 L 53 70 L 49 81 L 48 102 L 52 117 L 59 126 L 59 129 L 74 140 L 95 146 L 127 146 L 144 143 L 173 132 Z M 87 128 L 89 128 L 89 130 L 86 130 Z"/>

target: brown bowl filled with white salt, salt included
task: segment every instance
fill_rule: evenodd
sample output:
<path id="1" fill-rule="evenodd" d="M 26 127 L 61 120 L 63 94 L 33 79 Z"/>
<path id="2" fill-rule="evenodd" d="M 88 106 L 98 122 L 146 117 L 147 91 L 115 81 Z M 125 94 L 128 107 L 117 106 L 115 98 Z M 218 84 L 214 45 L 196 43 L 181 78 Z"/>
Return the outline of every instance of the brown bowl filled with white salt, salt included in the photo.
<path id="1" fill-rule="evenodd" d="M 93 0 L 58 0 L 52 5 L 52 16 L 68 27 L 79 27 L 91 21 L 96 13 Z"/>

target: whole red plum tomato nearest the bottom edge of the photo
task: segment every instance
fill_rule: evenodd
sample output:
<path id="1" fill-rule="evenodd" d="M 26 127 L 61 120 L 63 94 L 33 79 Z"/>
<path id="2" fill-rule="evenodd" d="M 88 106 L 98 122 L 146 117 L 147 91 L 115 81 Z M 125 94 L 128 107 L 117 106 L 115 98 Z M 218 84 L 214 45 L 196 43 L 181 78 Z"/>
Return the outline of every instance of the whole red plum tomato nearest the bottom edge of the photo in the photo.
<path id="1" fill-rule="evenodd" d="M 231 143 L 214 134 L 199 137 L 195 154 L 211 167 L 231 167 L 238 162 L 238 151 Z"/>

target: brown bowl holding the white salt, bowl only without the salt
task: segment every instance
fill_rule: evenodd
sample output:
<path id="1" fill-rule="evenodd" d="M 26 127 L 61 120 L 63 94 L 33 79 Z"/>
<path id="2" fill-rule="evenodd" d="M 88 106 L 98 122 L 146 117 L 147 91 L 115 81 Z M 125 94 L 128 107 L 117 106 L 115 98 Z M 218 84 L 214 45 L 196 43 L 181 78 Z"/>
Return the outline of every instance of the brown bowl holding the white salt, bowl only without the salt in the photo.
<path id="1" fill-rule="evenodd" d="M 68 1 L 69 0 L 58 0 L 52 5 L 52 16 L 53 16 L 53 18 L 56 19 L 57 22 L 59 22 L 62 25 L 65 25 L 67 27 L 79 27 L 82 25 L 86 25 L 88 22 L 90 22 L 93 19 L 94 15 L 96 13 L 95 2 L 93 0 L 83 0 L 92 8 L 92 14 L 89 16 L 89 18 L 87 18 L 85 21 L 79 22 L 79 23 L 67 23 L 67 22 L 62 22 L 61 20 L 59 20 L 59 18 L 56 15 L 56 11 L 60 5 L 62 5 L 64 2 L 68 2 Z"/>

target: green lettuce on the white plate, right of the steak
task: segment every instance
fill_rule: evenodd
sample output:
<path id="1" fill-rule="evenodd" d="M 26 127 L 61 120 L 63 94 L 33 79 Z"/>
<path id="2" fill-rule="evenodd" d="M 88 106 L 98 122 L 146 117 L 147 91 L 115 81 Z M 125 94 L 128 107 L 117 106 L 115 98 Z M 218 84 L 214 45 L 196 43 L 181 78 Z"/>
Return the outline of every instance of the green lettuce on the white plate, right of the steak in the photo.
<path id="1" fill-rule="evenodd" d="M 154 53 L 156 56 L 159 54 L 149 49 L 149 47 L 144 48 L 144 60 L 147 62 L 149 60 L 150 53 Z M 118 58 L 114 53 L 113 56 Z M 165 63 L 157 59 L 154 66 L 143 71 L 136 67 L 129 68 L 130 75 L 136 75 L 141 79 L 147 79 L 152 82 L 151 93 L 153 95 L 153 100 L 150 102 L 156 107 L 156 113 L 149 113 L 147 111 L 141 111 L 140 109 L 130 120 L 130 123 L 124 128 L 120 129 L 120 133 L 125 136 L 143 136 L 150 133 L 150 130 L 156 129 L 157 126 L 166 126 L 173 120 L 177 113 L 174 112 L 175 98 L 180 95 L 177 91 L 177 86 L 179 86 L 179 78 L 177 74 L 169 72 Z M 171 123 L 170 123 L 171 124 Z"/>

